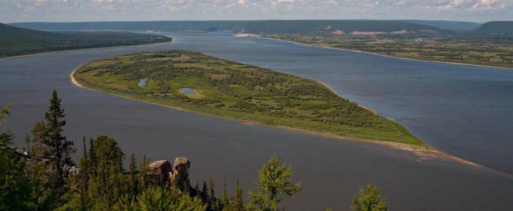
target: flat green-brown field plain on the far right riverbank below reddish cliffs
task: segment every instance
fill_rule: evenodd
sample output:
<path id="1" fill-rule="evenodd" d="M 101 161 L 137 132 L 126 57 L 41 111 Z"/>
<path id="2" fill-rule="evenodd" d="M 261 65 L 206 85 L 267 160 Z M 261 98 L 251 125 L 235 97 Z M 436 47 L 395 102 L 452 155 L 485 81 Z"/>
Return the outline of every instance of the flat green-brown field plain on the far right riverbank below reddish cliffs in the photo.
<path id="1" fill-rule="evenodd" d="M 513 68 L 513 36 L 271 34 L 263 37 L 401 58 Z"/>

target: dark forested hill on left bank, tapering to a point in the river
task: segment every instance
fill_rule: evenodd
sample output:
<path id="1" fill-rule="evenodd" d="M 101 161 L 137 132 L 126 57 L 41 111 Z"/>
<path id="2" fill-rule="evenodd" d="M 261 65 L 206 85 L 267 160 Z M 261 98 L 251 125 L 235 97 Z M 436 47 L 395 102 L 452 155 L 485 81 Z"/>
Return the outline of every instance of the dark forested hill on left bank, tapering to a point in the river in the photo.
<path id="1" fill-rule="evenodd" d="M 171 38 L 131 32 L 46 32 L 0 24 L 0 57 L 48 51 L 127 46 Z"/>

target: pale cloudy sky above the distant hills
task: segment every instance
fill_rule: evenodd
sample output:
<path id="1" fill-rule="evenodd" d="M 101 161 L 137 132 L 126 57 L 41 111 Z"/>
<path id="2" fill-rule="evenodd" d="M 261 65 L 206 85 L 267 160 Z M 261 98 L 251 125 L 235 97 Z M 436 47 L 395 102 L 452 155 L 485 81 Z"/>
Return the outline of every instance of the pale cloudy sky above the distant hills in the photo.
<path id="1" fill-rule="evenodd" d="M 0 0 L 0 22 L 248 19 L 513 20 L 513 0 Z"/>

